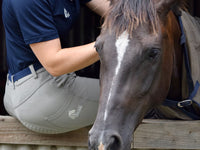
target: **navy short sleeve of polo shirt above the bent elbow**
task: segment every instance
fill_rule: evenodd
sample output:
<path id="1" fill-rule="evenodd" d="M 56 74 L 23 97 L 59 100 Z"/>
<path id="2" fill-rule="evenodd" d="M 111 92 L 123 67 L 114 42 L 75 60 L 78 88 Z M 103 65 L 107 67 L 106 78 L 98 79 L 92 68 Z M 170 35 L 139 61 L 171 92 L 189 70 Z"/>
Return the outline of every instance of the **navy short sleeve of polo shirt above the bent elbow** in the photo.
<path id="1" fill-rule="evenodd" d="M 14 0 L 13 9 L 26 44 L 58 38 L 48 0 Z"/>

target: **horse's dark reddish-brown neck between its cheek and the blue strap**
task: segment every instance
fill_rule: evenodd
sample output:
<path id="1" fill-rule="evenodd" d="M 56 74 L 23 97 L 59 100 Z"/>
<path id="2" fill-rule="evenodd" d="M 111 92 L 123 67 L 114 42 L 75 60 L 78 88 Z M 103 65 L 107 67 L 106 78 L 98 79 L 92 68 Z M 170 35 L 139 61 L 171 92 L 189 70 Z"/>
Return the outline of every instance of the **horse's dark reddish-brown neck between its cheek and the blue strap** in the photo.
<path id="1" fill-rule="evenodd" d="M 180 26 L 173 12 L 169 13 L 168 23 L 170 27 L 170 36 L 173 40 L 173 70 L 171 77 L 171 86 L 167 98 L 181 100 L 182 98 L 182 63 L 183 53 L 180 45 Z"/>

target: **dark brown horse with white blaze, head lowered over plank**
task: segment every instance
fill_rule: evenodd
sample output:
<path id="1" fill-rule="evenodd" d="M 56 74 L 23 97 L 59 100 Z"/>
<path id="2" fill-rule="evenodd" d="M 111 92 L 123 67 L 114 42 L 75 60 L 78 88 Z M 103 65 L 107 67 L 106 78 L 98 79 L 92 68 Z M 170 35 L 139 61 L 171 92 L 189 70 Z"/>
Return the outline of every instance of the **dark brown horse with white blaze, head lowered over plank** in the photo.
<path id="1" fill-rule="evenodd" d="M 130 150 L 132 135 L 146 114 L 191 119 L 160 105 L 182 99 L 183 53 L 175 13 L 184 0 L 110 0 L 96 48 L 101 95 L 89 132 L 90 150 Z M 173 11 L 172 11 L 173 10 Z"/>

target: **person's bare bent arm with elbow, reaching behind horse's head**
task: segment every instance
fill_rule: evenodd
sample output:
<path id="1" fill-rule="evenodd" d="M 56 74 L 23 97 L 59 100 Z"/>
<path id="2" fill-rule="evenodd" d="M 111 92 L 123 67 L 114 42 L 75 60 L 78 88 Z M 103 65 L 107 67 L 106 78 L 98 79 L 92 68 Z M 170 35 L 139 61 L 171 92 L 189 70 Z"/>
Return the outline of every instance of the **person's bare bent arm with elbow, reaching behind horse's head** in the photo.
<path id="1" fill-rule="evenodd" d="M 60 40 L 57 38 L 30 44 L 30 47 L 44 68 L 53 76 L 80 70 L 99 60 L 94 42 L 61 49 Z"/>

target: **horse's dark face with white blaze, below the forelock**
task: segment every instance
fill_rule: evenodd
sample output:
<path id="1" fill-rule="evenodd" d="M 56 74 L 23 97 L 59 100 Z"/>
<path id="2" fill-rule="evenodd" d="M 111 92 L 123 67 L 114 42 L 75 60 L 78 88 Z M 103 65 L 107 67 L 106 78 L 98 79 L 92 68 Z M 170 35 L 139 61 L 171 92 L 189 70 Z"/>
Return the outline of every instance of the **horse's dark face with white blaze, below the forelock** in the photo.
<path id="1" fill-rule="evenodd" d="M 145 113 L 167 96 L 172 74 L 172 43 L 160 25 L 155 34 L 146 22 L 118 36 L 104 30 L 96 41 L 100 56 L 101 95 L 89 132 L 90 150 L 129 150 Z"/>

